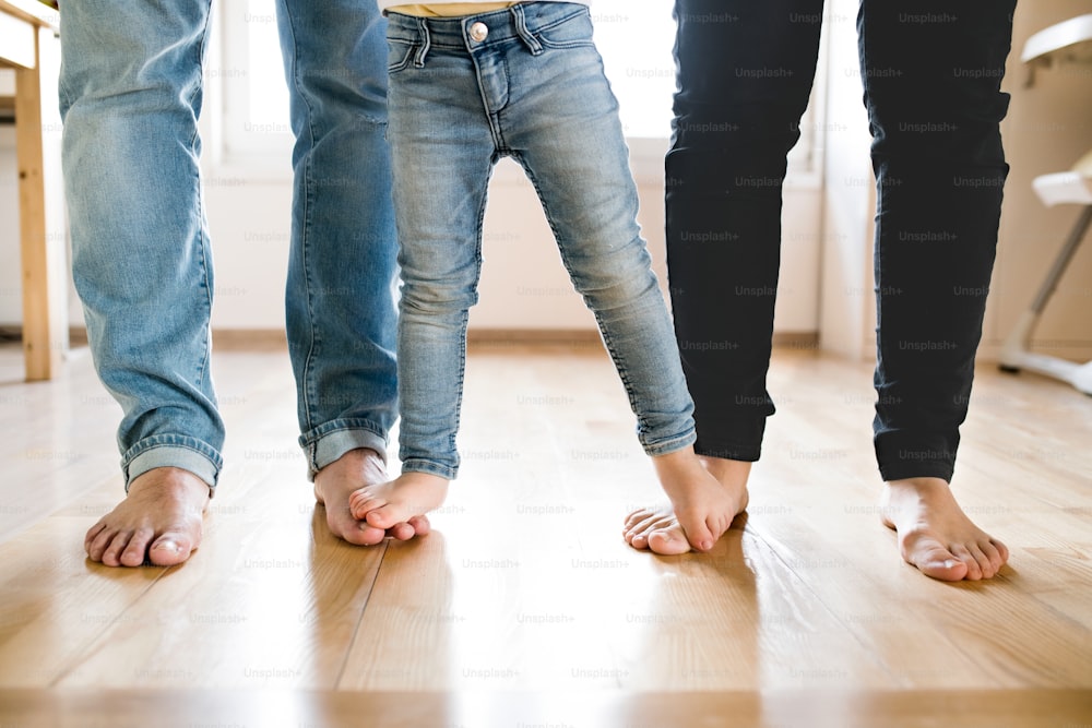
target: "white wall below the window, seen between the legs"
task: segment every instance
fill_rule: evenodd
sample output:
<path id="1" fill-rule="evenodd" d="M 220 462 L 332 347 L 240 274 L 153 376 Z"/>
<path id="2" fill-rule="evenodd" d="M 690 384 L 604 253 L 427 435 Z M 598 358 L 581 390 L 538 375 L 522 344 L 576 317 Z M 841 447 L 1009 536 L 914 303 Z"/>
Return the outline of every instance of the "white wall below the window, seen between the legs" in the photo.
<path id="1" fill-rule="evenodd" d="M 210 84 L 206 109 L 215 108 L 222 88 Z M 213 325 L 221 330 L 278 330 L 284 325 L 284 279 L 288 255 L 290 179 L 284 162 L 258 169 L 225 160 L 216 153 L 217 124 L 206 114 L 202 123 L 206 154 L 202 162 L 213 256 L 216 301 Z M 10 133 L 10 130 L 3 130 Z M 13 140 L 13 135 L 11 135 Z M 21 321 L 19 288 L 17 200 L 13 141 L 0 136 L 0 255 L 10 259 L 0 278 L 0 325 Z M 641 196 L 640 223 L 654 266 L 666 290 L 664 247 L 663 155 L 665 140 L 634 140 L 633 166 Z M 779 332 L 814 332 L 817 327 L 819 254 L 818 178 L 796 175 L 786 189 L 784 263 L 775 325 Z M 534 189 L 522 170 L 503 162 L 490 187 L 484 230 L 485 264 L 482 303 L 472 312 L 475 329 L 593 330 L 558 258 Z M 70 320 L 82 325 L 74 294 Z"/>

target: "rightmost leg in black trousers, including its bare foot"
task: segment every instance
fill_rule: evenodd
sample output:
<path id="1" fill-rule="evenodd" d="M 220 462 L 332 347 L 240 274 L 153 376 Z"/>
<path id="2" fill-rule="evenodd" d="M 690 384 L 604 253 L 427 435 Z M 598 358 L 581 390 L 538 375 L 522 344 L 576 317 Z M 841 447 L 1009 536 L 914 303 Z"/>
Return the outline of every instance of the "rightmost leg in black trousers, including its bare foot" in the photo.
<path id="1" fill-rule="evenodd" d="M 885 523 L 906 561 L 946 581 L 993 576 L 1008 558 L 948 482 L 1008 171 L 1000 82 L 1013 7 L 933 2 L 915 10 L 923 22 L 906 22 L 904 9 L 865 0 L 858 15 L 878 184 L 874 430 Z"/>

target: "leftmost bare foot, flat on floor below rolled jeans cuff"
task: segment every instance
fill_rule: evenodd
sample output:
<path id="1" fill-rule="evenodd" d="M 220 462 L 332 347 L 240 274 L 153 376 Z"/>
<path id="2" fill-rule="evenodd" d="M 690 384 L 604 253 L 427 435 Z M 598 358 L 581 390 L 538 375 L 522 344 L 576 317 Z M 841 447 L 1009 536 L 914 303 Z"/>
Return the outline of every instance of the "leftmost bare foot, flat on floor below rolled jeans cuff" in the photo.
<path id="1" fill-rule="evenodd" d="M 126 499 L 87 530 L 83 548 L 106 566 L 174 566 L 201 544 L 209 485 L 189 470 L 157 467 L 129 484 Z"/>

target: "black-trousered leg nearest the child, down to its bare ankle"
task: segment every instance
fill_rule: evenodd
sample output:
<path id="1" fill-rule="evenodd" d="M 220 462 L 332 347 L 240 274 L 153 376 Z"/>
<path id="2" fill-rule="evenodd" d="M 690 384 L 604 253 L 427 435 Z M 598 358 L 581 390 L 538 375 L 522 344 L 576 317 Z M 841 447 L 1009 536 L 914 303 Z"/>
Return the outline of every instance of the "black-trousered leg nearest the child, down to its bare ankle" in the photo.
<path id="1" fill-rule="evenodd" d="M 822 0 L 677 0 L 667 263 L 697 452 L 746 492 L 765 387 L 785 155 L 799 139 Z"/>

